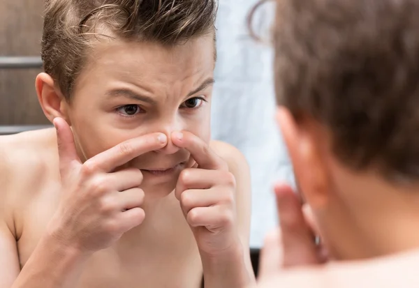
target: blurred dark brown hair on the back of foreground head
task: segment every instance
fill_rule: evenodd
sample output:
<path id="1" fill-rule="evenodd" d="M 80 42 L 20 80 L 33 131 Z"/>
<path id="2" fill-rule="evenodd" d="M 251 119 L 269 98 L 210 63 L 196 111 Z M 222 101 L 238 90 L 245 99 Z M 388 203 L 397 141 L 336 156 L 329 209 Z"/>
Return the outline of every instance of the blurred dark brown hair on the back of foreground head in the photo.
<path id="1" fill-rule="evenodd" d="M 419 1 L 277 0 L 277 103 L 353 169 L 419 179 Z"/>

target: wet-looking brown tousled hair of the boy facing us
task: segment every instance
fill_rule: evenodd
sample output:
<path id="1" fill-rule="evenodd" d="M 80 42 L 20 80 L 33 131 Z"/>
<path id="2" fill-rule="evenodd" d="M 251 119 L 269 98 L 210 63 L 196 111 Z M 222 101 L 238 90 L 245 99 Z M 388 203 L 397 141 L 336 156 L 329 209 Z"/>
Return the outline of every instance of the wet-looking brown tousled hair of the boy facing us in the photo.
<path id="1" fill-rule="evenodd" d="M 164 46 L 214 31 L 217 0 L 46 0 L 41 56 L 68 100 L 94 40 Z"/>

